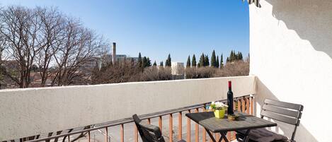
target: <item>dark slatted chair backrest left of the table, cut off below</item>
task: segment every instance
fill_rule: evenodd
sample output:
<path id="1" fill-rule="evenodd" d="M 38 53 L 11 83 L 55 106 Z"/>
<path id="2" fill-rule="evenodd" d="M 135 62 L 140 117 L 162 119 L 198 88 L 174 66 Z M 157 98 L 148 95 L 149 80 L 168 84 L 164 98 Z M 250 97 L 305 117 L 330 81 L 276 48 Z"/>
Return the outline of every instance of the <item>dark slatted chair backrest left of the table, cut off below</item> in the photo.
<path id="1" fill-rule="evenodd" d="M 132 115 L 132 119 L 134 119 L 143 142 L 165 142 L 158 126 L 142 123 L 137 114 Z"/>

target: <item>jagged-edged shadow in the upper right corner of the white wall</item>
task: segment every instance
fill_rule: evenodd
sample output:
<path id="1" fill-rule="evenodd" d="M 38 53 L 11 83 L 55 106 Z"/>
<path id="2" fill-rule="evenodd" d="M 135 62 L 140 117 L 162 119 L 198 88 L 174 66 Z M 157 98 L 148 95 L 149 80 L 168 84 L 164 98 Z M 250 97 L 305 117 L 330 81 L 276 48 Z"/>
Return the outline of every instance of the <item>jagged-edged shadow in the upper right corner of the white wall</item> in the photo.
<path id="1" fill-rule="evenodd" d="M 285 22 L 303 40 L 309 40 L 316 51 L 332 58 L 331 0 L 265 1 L 273 6 L 273 17 Z"/>

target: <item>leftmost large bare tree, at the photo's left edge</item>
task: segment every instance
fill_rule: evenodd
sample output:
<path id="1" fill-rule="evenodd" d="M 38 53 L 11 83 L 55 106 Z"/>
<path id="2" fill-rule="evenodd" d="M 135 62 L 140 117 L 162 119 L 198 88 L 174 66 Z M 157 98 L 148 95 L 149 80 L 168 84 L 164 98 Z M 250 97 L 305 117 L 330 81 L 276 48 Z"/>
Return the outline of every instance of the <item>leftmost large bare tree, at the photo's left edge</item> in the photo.
<path id="1" fill-rule="evenodd" d="M 35 10 L 21 6 L 8 6 L 0 12 L 0 34 L 8 43 L 6 54 L 18 64 L 18 74 L 5 68 L 1 72 L 16 81 L 20 88 L 30 84 L 30 73 L 40 46 L 40 19 Z"/>

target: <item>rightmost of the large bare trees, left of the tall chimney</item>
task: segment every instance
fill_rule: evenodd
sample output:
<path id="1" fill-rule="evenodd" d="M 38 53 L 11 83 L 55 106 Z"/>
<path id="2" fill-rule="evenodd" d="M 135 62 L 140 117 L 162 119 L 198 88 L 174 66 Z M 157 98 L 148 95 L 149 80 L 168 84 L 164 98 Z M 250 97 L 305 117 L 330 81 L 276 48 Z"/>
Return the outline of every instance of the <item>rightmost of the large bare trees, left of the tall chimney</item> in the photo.
<path id="1" fill-rule="evenodd" d="M 84 68 L 96 64 L 96 57 L 107 46 L 103 37 L 82 27 L 79 20 L 67 18 L 63 42 L 54 55 L 57 66 L 52 85 L 70 85 L 78 78 L 88 78 Z"/>

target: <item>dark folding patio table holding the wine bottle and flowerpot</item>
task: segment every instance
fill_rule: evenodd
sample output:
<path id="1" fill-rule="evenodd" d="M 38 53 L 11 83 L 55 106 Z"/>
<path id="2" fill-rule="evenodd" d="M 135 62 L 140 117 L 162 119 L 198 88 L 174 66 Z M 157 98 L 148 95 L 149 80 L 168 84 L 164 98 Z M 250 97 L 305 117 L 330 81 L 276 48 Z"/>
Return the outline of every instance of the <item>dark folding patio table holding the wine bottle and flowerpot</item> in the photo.
<path id="1" fill-rule="evenodd" d="M 222 141 L 222 139 L 228 142 L 226 137 L 227 131 L 246 130 L 246 133 L 244 134 L 244 142 L 246 142 L 249 139 L 248 134 L 251 129 L 277 126 L 277 124 L 274 122 L 269 122 L 265 119 L 254 117 L 249 114 L 240 112 L 235 112 L 235 114 L 239 115 L 239 119 L 235 121 L 227 119 L 227 114 L 225 114 L 224 118 L 218 119 L 214 117 L 213 112 L 188 113 L 185 114 L 185 116 L 203 126 L 207 130 L 207 134 L 209 134 L 210 138 L 214 142 L 217 141 L 213 138 L 210 131 L 212 131 L 212 133 L 220 133 L 222 135 L 222 138 L 219 139 L 219 142 Z"/>

